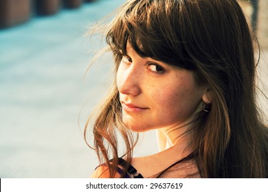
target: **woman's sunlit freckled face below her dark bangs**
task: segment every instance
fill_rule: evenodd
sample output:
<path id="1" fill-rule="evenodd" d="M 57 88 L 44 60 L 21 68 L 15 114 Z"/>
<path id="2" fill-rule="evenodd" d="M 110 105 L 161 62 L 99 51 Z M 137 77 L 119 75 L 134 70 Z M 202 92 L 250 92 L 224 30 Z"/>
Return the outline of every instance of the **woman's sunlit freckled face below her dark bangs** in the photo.
<path id="1" fill-rule="evenodd" d="M 192 71 L 141 58 L 129 45 L 118 68 L 117 86 L 122 120 L 134 132 L 186 125 L 206 91 L 194 84 Z"/>

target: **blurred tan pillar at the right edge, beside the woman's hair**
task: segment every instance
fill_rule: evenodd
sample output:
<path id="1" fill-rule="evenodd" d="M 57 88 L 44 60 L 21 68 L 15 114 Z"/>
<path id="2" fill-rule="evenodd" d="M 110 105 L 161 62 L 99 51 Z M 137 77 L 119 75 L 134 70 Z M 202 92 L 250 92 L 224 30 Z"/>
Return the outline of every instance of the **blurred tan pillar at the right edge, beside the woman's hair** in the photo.
<path id="1" fill-rule="evenodd" d="M 268 49 L 268 1 L 258 0 L 257 36 L 260 46 Z"/>

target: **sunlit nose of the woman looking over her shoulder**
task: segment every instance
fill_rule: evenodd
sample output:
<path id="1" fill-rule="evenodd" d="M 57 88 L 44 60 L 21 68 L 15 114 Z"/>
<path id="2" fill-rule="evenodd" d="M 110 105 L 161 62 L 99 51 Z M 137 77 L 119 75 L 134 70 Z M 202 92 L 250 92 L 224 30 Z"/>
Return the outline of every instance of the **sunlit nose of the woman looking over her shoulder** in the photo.
<path id="1" fill-rule="evenodd" d="M 137 96 L 141 93 L 141 71 L 134 64 L 124 66 L 120 64 L 117 73 L 118 91 L 124 95 Z"/>

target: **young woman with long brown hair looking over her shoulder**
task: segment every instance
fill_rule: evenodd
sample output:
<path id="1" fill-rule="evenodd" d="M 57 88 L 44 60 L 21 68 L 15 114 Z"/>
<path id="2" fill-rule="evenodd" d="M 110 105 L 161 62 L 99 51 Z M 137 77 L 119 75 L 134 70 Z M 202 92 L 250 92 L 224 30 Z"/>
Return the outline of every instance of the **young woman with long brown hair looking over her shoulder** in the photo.
<path id="1" fill-rule="evenodd" d="M 93 178 L 267 178 L 258 46 L 236 1 L 130 0 L 107 29 L 116 75 L 93 123 Z M 161 152 L 133 158 L 131 133 L 148 130 Z"/>

